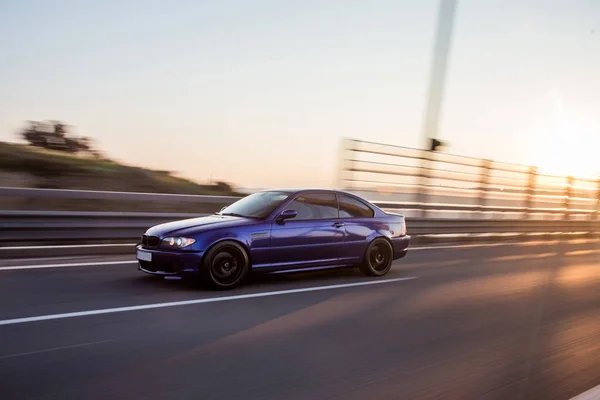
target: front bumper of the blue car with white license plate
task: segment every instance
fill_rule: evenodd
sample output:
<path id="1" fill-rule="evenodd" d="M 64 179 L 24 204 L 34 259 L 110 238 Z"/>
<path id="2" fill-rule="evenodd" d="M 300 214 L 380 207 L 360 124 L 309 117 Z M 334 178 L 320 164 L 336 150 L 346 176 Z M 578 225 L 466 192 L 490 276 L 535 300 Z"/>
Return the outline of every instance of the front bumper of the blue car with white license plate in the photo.
<path id="1" fill-rule="evenodd" d="M 152 255 L 152 261 L 138 258 L 138 270 L 158 276 L 197 275 L 200 272 L 204 256 L 204 252 L 150 250 L 141 245 L 136 246 L 136 254 L 138 250 Z"/>

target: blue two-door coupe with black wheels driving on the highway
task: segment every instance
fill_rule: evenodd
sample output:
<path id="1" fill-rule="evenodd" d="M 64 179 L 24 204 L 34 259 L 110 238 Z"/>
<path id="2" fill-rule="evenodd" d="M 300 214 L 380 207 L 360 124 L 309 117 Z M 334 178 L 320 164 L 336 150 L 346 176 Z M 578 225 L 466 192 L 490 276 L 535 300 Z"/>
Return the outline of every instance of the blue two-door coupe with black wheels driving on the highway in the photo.
<path id="1" fill-rule="evenodd" d="M 382 276 L 406 255 L 409 242 L 404 216 L 353 194 L 268 190 L 214 215 L 154 226 L 136 251 L 145 273 L 196 276 L 232 289 L 251 270 L 359 267 Z"/>

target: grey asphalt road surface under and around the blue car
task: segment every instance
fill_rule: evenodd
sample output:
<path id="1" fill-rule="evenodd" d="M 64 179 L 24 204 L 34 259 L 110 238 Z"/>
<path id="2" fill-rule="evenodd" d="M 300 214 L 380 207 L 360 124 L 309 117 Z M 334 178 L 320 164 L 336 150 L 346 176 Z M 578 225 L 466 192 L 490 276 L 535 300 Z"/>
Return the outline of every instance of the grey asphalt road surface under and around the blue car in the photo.
<path id="1" fill-rule="evenodd" d="M 0 398 L 566 400 L 600 384 L 598 242 L 423 249 L 384 278 L 410 280 L 335 271 L 226 293 L 128 260 L 0 262 Z M 115 310 L 197 299 L 212 300 Z"/>

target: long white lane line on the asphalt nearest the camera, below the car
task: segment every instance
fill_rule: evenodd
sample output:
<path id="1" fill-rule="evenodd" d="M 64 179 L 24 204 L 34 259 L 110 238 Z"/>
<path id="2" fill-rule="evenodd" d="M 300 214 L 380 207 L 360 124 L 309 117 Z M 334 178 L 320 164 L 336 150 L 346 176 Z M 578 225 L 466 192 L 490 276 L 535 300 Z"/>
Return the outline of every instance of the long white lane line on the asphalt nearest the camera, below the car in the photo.
<path id="1" fill-rule="evenodd" d="M 64 313 L 64 314 L 39 315 L 36 317 L 0 320 L 0 325 L 24 324 L 27 322 L 48 321 L 48 320 L 53 320 L 53 319 L 85 317 L 88 315 L 101 315 L 101 314 L 112 314 L 112 313 L 127 312 L 127 311 L 149 310 L 149 309 L 153 309 L 153 308 L 187 306 L 187 305 L 191 305 L 191 304 L 217 303 L 217 302 L 221 302 L 221 301 L 253 299 L 253 298 L 257 298 L 257 297 L 281 296 L 281 295 L 285 295 L 285 294 L 317 292 L 317 291 L 322 291 L 322 290 L 334 290 L 334 289 L 342 289 L 342 288 L 350 288 L 350 287 L 358 287 L 358 286 L 382 285 L 385 283 L 408 281 L 408 280 L 412 280 L 412 279 L 418 279 L 418 277 L 409 276 L 409 277 L 405 277 L 405 278 L 381 279 L 381 280 L 371 280 L 371 281 L 362 281 L 362 282 L 354 282 L 354 283 L 342 283 L 342 284 L 337 284 L 337 285 L 315 286 L 315 287 L 307 287 L 307 288 L 300 288 L 300 289 L 277 290 L 277 291 L 273 291 L 273 292 L 260 292 L 260 293 L 249 293 L 249 294 L 240 294 L 240 295 L 233 295 L 233 296 L 209 297 L 209 298 L 196 299 L 196 300 L 173 301 L 173 302 L 169 302 L 169 303 L 143 304 L 143 305 L 139 305 L 139 306 L 105 308 L 105 309 L 100 309 L 100 310 L 79 311 L 79 312 L 71 312 L 71 313 Z"/>

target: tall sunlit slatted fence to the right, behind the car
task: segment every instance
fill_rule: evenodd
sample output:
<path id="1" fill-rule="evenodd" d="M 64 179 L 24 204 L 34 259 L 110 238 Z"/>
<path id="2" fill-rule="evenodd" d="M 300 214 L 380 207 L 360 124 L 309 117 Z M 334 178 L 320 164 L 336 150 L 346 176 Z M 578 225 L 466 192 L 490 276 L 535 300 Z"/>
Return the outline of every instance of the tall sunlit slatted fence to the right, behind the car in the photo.
<path id="1" fill-rule="evenodd" d="M 600 218 L 600 177 L 344 139 L 338 187 L 407 215 L 450 218 Z M 486 213 L 486 214 L 483 214 Z"/>

